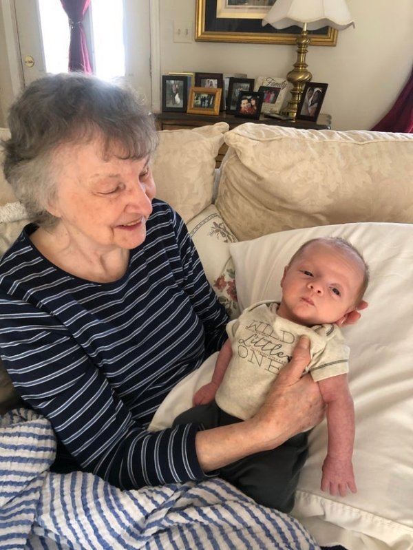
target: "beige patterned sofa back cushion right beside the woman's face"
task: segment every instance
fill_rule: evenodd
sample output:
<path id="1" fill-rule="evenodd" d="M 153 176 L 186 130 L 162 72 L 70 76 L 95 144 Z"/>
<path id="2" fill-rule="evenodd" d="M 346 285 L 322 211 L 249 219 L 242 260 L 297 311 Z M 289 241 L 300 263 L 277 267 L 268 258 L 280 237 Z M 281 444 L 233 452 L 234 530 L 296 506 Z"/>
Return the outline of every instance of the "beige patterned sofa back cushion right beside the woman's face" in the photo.
<path id="1" fill-rule="evenodd" d="M 227 123 L 191 130 L 161 130 L 151 163 L 156 196 L 180 213 L 184 222 L 213 202 L 215 157 L 224 142 Z"/>

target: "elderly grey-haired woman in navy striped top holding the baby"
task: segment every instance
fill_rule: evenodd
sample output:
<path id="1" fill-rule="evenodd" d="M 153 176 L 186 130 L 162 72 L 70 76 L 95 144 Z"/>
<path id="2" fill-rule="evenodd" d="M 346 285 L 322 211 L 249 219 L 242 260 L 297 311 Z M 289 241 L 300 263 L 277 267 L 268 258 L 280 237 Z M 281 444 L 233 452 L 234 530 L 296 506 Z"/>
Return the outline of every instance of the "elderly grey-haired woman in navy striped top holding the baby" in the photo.
<path id="1" fill-rule="evenodd" d="M 228 321 L 182 220 L 154 198 L 153 120 L 123 87 L 59 74 L 25 89 L 9 126 L 4 171 L 32 223 L 0 264 L 1 356 L 54 427 L 56 469 L 123 488 L 201 480 L 320 421 L 301 341 L 253 419 L 148 432 Z"/>

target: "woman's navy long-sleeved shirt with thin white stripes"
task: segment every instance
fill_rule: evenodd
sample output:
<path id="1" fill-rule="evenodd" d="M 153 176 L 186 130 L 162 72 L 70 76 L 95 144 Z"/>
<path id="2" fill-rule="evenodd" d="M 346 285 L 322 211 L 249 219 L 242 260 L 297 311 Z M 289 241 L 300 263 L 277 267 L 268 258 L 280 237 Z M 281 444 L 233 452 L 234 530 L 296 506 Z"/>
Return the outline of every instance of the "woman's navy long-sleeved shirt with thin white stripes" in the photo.
<path id="1" fill-rule="evenodd" d="M 127 273 L 94 283 L 48 262 L 26 226 L 0 263 L 0 348 L 58 435 L 56 465 L 125 489 L 204 478 L 196 425 L 147 432 L 161 401 L 222 346 L 228 318 L 182 220 L 153 201 Z"/>

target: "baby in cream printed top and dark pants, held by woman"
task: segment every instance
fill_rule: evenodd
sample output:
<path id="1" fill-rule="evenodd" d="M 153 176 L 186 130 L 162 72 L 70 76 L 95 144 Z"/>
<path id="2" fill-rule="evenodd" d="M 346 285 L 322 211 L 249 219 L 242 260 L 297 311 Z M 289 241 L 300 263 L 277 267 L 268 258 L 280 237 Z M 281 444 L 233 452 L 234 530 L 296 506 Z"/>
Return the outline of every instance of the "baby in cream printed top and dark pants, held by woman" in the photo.
<path id="1" fill-rule="evenodd" d="M 281 302 L 259 302 L 227 325 L 210 383 L 193 397 L 194 408 L 178 423 L 211 428 L 251 418 L 299 337 L 310 339 L 308 371 L 327 405 L 328 451 L 321 489 L 344 496 L 356 492 L 352 469 L 354 408 L 348 389 L 349 349 L 339 325 L 357 309 L 368 285 L 361 254 L 340 238 L 304 243 L 284 268 Z M 220 476 L 258 503 L 290 511 L 308 434 L 298 434 L 272 451 L 255 454 L 220 470 Z"/>

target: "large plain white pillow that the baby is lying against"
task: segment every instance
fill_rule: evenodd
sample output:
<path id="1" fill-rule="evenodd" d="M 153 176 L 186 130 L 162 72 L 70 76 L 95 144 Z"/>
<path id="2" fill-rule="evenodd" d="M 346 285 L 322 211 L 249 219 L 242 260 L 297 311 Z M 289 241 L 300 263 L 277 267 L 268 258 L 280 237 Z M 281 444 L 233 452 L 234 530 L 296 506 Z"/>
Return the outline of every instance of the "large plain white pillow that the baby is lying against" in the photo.
<path id="1" fill-rule="evenodd" d="M 350 346 L 350 390 L 356 411 L 357 494 L 319 489 L 326 423 L 310 434 L 293 515 L 321 545 L 349 550 L 407 550 L 413 544 L 413 225 L 360 223 L 273 233 L 230 244 L 240 307 L 278 299 L 279 280 L 308 239 L 345 237 L 370 265 L 369 302 L 343 328 Z"/>

